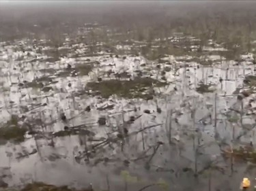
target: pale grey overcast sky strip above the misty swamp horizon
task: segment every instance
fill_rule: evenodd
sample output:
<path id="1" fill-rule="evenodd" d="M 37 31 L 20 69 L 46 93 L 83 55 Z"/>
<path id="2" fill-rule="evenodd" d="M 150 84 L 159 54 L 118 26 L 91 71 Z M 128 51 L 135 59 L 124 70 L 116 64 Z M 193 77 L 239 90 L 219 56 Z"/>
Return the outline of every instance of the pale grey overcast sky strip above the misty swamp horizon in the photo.
<path id="1" fill-rule="evenodd" d="M 226 2 L 226 3 L 225 3 Z M 228 3 L 227 3 L 228 2 Z M 241 3 L 242 2 L 242 3 Z M 145 10 L 145 12 L 154 13 L 154 11 L 162 12 L 162 8 L 166 10 L 169 14 L 171 12 L 187 12 L 188 10 L 206 10 L 204 5 L 210 7 L 210 10 L 213 9 L 213 4 L 220 5 L 218 7 L 224 7 L 225 3 L 227 6 L 239 4 L 239 8 L 242 5 L 247 4 L 250 1 L 173 1 L 173 0 L 151 0 L 151 1 L 123 1 L 123 0 L 115 0 L 115 1 L 57 1 L 57 0 L 45 0 L 45 1 L 22 1 L 22 0 L 0 0 L 0 15 L 1 16 L 12 16 L 18 18 L 19 16 L 27 15 L 27 14 L 38 14 L 51 12 L 53 14 L 57 13 L 93 13 L 93 14 L 103 14 L 106 12 L 138 12 L 138 10 Z M 176 5 L 179 7 L 176 8 Z M 181 5 L 181 6 L 180 6 Z M 180 10 L 180 7 L 186 7 L 184 10 Z M 215 6 L 216 7 L 216 6 Z M 248 7 L 256 7 L 250 5 Z M 178 10 L 178 11 L 177 11 Z M 0 18 L 1 20 L 1 18 Z"/>

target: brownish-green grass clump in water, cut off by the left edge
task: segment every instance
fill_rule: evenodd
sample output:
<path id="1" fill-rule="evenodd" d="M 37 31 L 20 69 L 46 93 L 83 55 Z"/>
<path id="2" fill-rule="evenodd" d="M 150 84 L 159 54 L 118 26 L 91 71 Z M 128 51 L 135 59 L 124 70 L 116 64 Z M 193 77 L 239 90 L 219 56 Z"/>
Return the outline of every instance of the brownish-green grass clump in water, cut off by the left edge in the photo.
<path id="1" fill-rule="evenodd" d="M 16 142 L 22 142 L 25 140 L 25 133 L 27 128 L 18 124 L 18 116 L 12 116 L 11 119 L 6 122 L 0 128 L 0 139 L 4 141 L 13 140 Z"/>

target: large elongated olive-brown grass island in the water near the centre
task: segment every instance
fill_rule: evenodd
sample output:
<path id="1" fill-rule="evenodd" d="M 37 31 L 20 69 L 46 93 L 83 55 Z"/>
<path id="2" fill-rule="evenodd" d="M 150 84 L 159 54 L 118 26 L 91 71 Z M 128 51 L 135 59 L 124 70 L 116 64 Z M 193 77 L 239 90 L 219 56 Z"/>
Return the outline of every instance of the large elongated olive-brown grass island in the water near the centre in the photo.
<path id="1" fill-rule="evenodd" d="M 100 92 L 103 98 L 109 98 L 116 94 L 128 99 L 142 98 L 150 99 L 152 93 L 146 92 L 147 88 L 154 86 L 166 86 L 167 83 L 159 82 L 150 77 L 135 77 L 134 80 L 105 80 L 102 82 L 89 82 L 87 88 Z"/>

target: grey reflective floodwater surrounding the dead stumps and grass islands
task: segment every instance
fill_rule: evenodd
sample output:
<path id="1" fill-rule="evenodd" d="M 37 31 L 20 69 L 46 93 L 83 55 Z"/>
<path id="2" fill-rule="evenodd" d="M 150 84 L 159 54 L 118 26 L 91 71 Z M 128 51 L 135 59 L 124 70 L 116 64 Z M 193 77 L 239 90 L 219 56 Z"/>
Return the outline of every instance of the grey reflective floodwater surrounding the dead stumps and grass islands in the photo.
<path id="1" fill-rule="evenodd" d="M 23 47 L 26 46 L 23 44 Z M 87 187 L 91 183 L 94 188 L 106 190 L 108 187 L 106 180 L 109 179 L 111 190 L 118 190 L 124 189 L 122 171 L 128 171 L 140 179 L 137 183 L 128 183 L 130 189 L 134 187 L 139 190 L 141 186 L 152 184 L 161 178 L 169 184 L 169 190 L 186 188 L 205 190 L 209 187 L 209 173 L 203 173 L 196 179 L 193 171 L 185 170 L 195 171 L 195 147 L 199 140 L 199 145 L 205 146 L 202 147 L 201 154 L 197 158 L 198 171 L 215 160 L 218 160 L 219 167 L 225 169 L 225 174 L 218 171 L 212 172 L 212 189 L 238 188 L 239 181 L 244 176 L 246 164 L 237 163 L 236 170 L 231 175 L 230 164 L 223 160 L 220 147 L 216 142 L 230 143 L 232 139 L 231 124 L 227 122 L 225 114 L 229 108 L 234 105 L 237 107 L 239 104 L 237 94 L 233 92 L 237 88 L 245 88 L 244 76 L 255 75 L 254 65 L 251 65 L 250 58 L 245 59 L 240 65 L 236 65 L 235 61 L 221 60 L 214 67 L 208 67 L 195 62 L 178 62 L 175 61 L 174 56 L 167 56 L 163 60 L 167 60 L 172 65 L 162 63 L 159 69 L 142 56 L 126 55 L 126 59 L 123 59 L 111 58 L 109 54 L 101 53 L 101 56 L 63 57 L 55 63 L 50 63 L 43 60 L 47 58 L 46 55 L 35 53 L 33 48 L 25 52 L 15 52 L 12 46 L 1 48 L 0 120 L 2 123 L 6 122 L 11 114 L 25 116 L 27 122 L 40 119 L 41 121 L 39 120 L 33 128 L 43 135 L 37 137 L 27 134 L 23 143 L 8 142 L 0 146 L 0 177 L 3 181 L 11 187 L 30 181 L 44 181 L 55 185 L 65 184 L 77 188 Z M 211 58 L 214 59 L 214 56 Z M 79 63 L 91 61 L 98 61 L 99 64 L 94 65 L 89 75 L 57 76 L 57 73 L 65 69 L 67 65 L 74 67 Z M 98 76 L 101 76 L 103 80 L 113 78 L 111 75 L 106 75 L 106 71 L 110 69 L 115 73 L 126 71 L 132 77 L 136 75 L 136 70 L 141 70 L 144 76 L 160 80 L 159 71 L 165 67 L 171 67 L 171 70 L 165 73 L 169 85 L 161 88 L 155 87 L 157 96 L 150 101 L 115 96 L 109 99 L 99 99 L 83 93 L 74 94 L 84 90 L 87 82 L 97 80 Z M 51 73 L 47 73 L 49 71 Z M 25 80 L 31 82 L 35 77 L 40 78 L 45 75 L 56 82 L 49 85 L 53 88 L 49 91 L 43 92 L 38 88 L 19 86 L 19 83 Z M 220 77 L 223 79 L 222 82 L 220 82 Z M 205 94 L 197 92 L 196 88 L 201 82 L 212 84 L 210 88 L 214 92 Z M 247 104 L 246 100 L 244 99 L 244 105 Z M 44 103 L 46 105 L 37 107 L 37 104 Z M 88 105 L 91 111 L 85 111 Z M 107 106 L 109 108 L 105 109 L 104 107 Z M 24 111 L 25 107 L 27 111 Z M 134 109 L 135 107 L 137 109 Z M 161 112 L 157 112 L 157 107 L 161 109 Z M 193 108 L 195 108 L 195 119 L 191 116 Z M 146 114 L 145 109 L 150 110 L 150 114 Z M 171 111 L 173 114 L 170 122 Z M 70 120 L 63 122 L 60 119 L 61 112 L 65 113 L 66 118 Z M 100 116 L 106 117 L 106 125 L 98 125 Z M 96 154 L 89 159 L 89 162 L 85 161 L 86 147 L 91 147 L 93 143 L 100 143 L 110 137 L 115 139 L 117 128 L 124 126 L 124 121 L 128 121 L 130 116 L 138 117 L 138 119 L 132 124 L 125 124 L 131 135 L 125 139 L 123 146 L 120 141 L 105 145 L 96 150 Z M 217 118 L 216 128 L 214 128 L 215 118 Z M 244 123 L 251 125 L 252 120 L 252 117 L 246 116 Z M 94 135 L 90 138 L 94 141 L 88 140 L 85 135 L 50 136 L 51 133 L 63 131 L 64 126 L 72 127 L 82 124 L 85 124 L 83 128 L 93 132 Z M 171 145 L 169 145 L 168 137 L 170 124 L 173 142 Z M 153 127 L 143 133 L 138 132 L 147 126 Z M 241 131 L 241 128 L 237 127 L 236 135 L 239 135 Z M 193 141 L 192 135 L 200 138 L 195 138 Z M 251 135 L 253 131 L 247 136 Z M 245 138 L 243 141 L 246 140 L 248 139 Z M 138 158 L 145 154 L 152 155 L 158 141 L 161 141 L 163 145 L 159 145 L 150 162 L 150 169 L 145 168 L 146 161 L 150 157 L 146 160 Z M 144 153 L 145 151 L 147 152 Z M 248 176 L 254 177 L 254 174 Z M 227 184 L 227 182 L 230 183 Z"/>

